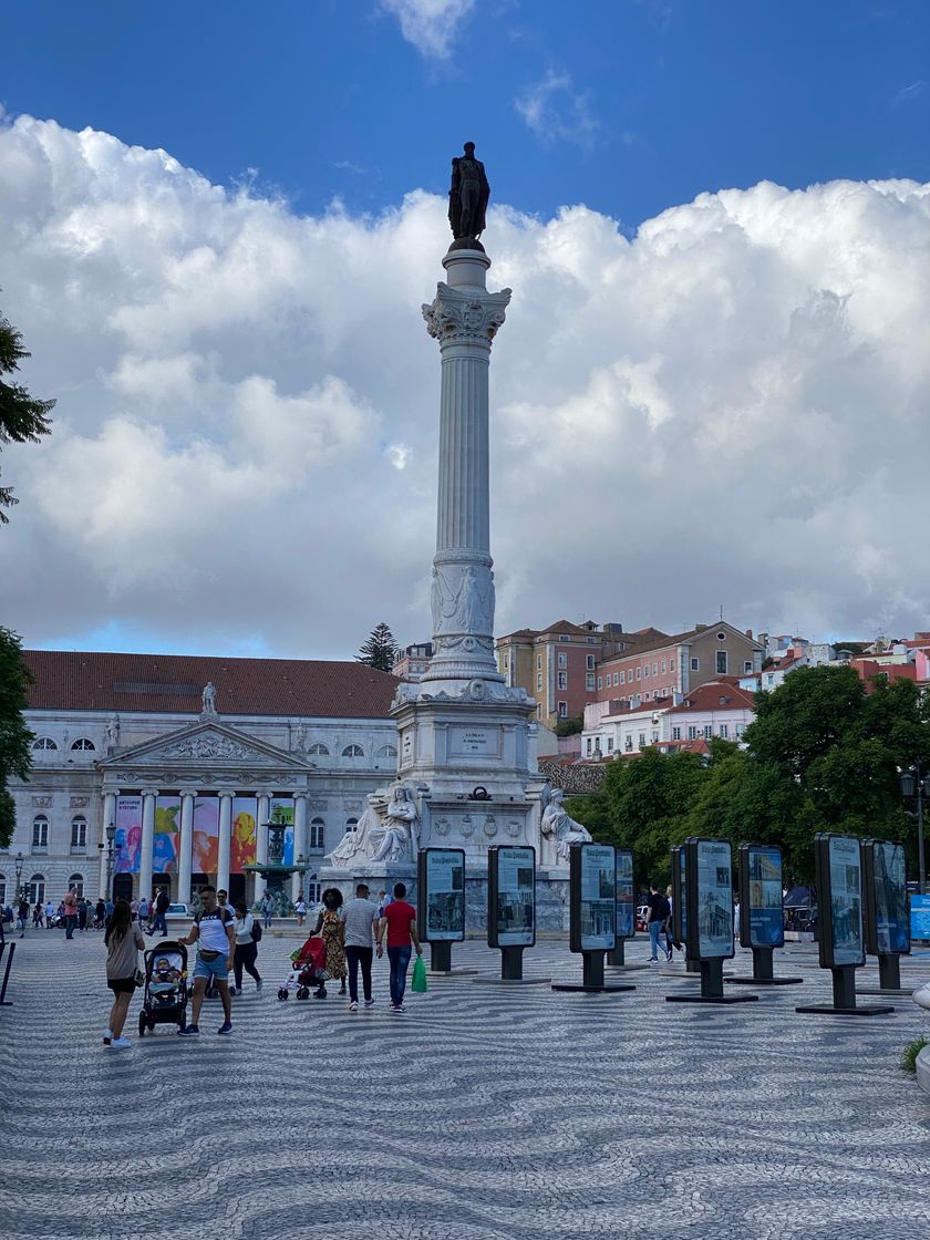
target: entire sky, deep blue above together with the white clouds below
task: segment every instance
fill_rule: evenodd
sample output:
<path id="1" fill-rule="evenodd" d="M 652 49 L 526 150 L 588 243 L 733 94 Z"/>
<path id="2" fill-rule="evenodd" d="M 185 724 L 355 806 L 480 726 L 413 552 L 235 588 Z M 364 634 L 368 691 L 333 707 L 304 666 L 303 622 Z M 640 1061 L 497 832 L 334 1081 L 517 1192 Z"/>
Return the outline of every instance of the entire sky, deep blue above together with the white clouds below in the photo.
<path id="1" fill-rule="evenodd" d="M 930 627 L 928 0 L 30 0 L 4 38 L 0 312 L 57 399 L 0 463 L 27 645 L 429 636 L 466 139 L 513 289 L 497 631 Z"/>

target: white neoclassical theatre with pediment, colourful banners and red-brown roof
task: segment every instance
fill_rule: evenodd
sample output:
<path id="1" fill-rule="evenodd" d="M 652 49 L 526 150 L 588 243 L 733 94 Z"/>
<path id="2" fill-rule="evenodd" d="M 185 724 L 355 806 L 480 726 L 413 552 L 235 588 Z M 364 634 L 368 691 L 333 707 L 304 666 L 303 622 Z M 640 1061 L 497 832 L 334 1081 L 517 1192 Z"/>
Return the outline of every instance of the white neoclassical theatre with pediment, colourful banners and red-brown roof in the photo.
<path id="1" fill-rule="evenodd" d="M 68 887 L 95 899 L 166 885 L 187 901 L 215 882 L 263 894 L 270 822 L 285 863 L 312 870 L 397 771 L 397 680 L 365 663 L 25 651 L 35 676 L 27 784 L 0 852 L 0 899 L 17 853 L 30 899 Z M 113 825 L 113 848 L 107 827 Z M 100 847 L 103 846 L 103 847 Z M 108 861 L 108 853 L 109 861 Z M 300 878 L 293 878 L 293 894 Z M 317 893 L 306 879 L 308 894 Z"/>

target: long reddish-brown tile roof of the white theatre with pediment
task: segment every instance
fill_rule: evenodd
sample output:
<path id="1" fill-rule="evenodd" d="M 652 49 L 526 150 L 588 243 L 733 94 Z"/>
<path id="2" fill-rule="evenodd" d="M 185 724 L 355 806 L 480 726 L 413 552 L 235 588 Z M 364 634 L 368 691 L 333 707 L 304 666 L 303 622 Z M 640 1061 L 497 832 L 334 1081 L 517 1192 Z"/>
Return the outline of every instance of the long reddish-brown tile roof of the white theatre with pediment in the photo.
<path id="1" fill-rule="evenodd" d="M 37 711 L 200 714 L 212 681 L 223 714 L 384 719 L 397 678 L 366 663 L 25 650 Z"/>

